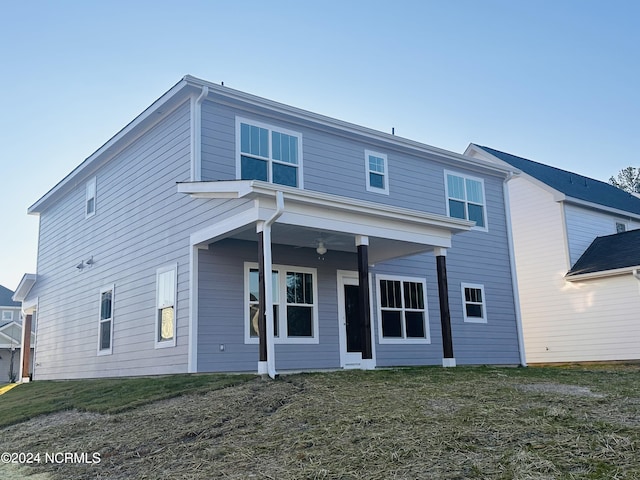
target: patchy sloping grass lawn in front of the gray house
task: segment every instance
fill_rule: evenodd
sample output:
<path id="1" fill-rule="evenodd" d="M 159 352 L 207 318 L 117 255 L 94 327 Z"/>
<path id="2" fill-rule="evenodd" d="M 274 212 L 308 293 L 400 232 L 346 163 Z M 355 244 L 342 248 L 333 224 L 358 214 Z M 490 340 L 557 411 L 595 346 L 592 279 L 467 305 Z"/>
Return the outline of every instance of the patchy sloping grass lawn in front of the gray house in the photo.
<path id="1" fill-rule="evenodd" d="M 640 479 L 638 366 L 245 380 L 34 382 L 0 397 L 0 441 L 100 454 L 29 469 L 56 479 Z"/>

